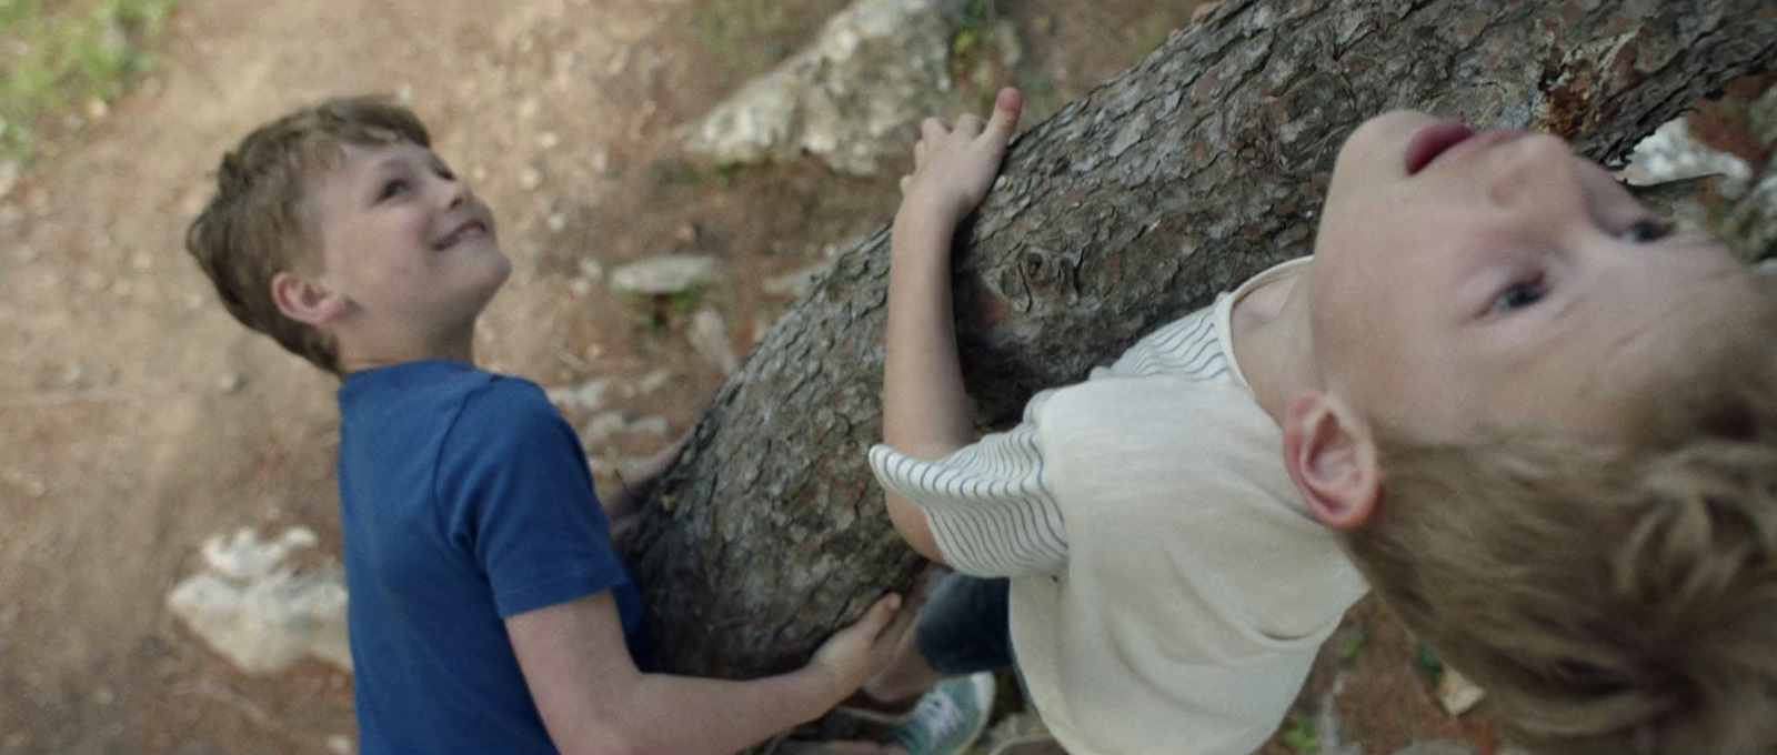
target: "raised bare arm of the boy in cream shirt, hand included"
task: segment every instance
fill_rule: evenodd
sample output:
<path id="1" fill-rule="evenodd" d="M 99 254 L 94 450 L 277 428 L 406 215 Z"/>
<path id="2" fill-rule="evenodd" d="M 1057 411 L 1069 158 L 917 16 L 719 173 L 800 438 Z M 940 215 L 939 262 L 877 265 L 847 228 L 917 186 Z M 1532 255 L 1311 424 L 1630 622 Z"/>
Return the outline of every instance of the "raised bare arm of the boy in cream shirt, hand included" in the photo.
<path id="1" fill-rule="evenodd" d="M 888 263 L 888 336 L 883 368 L 883 442 L 936 460 L 976 441 L 951 311 L 951 240 L 999 172 L 1024 96 L 1000 92 L 992 119 L 920 124 L 913 174 L 901 179 Z M 888 492 L 888 519 L 908 545 L 944 563 L 926 515 Z"/>

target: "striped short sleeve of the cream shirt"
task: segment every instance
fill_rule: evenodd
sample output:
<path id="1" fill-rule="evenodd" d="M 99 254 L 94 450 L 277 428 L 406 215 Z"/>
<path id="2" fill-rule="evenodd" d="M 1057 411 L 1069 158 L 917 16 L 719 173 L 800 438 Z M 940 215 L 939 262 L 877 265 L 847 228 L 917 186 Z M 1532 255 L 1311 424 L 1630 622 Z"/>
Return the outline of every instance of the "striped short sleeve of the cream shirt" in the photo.
<path id="1" fill-rule="evenodd" d="M 871 448 L 876 480 L 926 513 L 938 551 L 956 570 L 1013 577 L 1066 568 L 1066 522 L 1043 458 L 1040 417 L 1048 394 L 1032 398 L 1013 430 L 936 462 L 883 444 Z"/>

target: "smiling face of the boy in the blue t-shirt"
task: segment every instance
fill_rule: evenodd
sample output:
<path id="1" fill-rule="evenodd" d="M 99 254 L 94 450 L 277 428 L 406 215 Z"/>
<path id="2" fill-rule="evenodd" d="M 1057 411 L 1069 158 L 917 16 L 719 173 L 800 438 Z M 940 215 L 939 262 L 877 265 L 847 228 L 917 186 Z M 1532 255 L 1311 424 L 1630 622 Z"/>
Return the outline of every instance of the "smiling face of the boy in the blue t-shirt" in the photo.
<path id="1" fill-rule="evenodd" d="M 494 217 L 430 149 L 398 140 L 341 146 L 311 195 L 320 281 L 345 302 L 361 350 L 412 357 L 467 339 L 512 272 Z"/>

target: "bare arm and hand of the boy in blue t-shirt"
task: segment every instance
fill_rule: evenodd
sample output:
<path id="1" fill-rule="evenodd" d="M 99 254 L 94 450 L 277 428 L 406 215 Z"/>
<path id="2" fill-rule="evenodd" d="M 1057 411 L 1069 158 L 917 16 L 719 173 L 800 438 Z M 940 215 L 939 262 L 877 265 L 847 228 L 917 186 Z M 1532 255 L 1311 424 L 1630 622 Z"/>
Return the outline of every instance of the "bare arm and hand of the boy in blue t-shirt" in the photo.
<path id="1" fill-rule="evenodd" d="M 887 663 L 899 599 L 871 606 L 807 666 L 766 679 L 641 673 L 611 592 L 506 618 L 512 650 L 549 739 L 563 753 L 734 753 L 812 721 Z"/>

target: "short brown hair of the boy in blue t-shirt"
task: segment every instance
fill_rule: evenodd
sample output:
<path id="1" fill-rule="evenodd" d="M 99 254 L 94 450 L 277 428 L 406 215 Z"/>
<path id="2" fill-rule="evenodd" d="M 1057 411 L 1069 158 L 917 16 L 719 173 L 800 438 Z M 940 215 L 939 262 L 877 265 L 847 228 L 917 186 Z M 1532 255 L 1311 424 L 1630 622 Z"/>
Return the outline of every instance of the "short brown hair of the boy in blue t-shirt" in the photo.
<path id="1" fill-rule="evenodd" d="M 217 192 L 185 233 L 185 249 L 217 286 L 235 320 L 331 373 L 327 334 L 284 316 L 272 300 L 279 272 L 320 266 L 320 227 L 309 192 L 341 146 L 414 142 L 430 135 L 414 114 L 382 98 L 338 98 L 259 126 L 222 156 Z"/>

